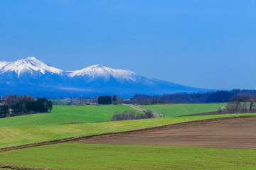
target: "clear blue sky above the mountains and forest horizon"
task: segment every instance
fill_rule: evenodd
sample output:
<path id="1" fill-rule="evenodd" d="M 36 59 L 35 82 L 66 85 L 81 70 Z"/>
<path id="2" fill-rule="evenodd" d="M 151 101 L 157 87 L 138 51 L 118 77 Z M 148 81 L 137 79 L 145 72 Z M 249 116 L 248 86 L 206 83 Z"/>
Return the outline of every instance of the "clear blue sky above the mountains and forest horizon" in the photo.
<path id="1" fill-rule="evenodd" d="M 256 89 L 255 0 L 1 0 L 0 60 Z"/>

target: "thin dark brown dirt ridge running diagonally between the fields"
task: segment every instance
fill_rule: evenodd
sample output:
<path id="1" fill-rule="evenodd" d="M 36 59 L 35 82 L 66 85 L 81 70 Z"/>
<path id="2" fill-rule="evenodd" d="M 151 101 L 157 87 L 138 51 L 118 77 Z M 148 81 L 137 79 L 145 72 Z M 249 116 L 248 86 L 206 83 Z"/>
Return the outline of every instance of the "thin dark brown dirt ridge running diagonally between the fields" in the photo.
<path id="1" fill-rule="evenodd" d="M 193 121 L 189 121 L 189 122 L 174 123 L 174 124 L 169 124 L 169 125 L 161 125 L 161 126 L 143 128 L 143 129 L 137 129 L 137 130 L 127 130 L 127 131 L 122 131 L 122 132 L 108 132 L 108 133 L 102 133 L 99 135 L 90 135 L 90 136 L 84 136 L 84 137 L 69 137 L 69 138 L 60 139 L 60 140 L 36 142 L 36 143 L 32 143 L 32 144 L 19 145 L 19 146 L 15 146 L 15 147 L 4 147 L 4 148 L 0 149 L 0 152 L 7 152 L 7 151 L 17 150 L 17 149 L 25 149 L 28 147 L 39 147 L 39 146 L 44 146 L 44 145 L 53 145 L 53 144 L 64 143 L 64 142 L 75 142 L 78 140 L 85 140 L 85 139 L 89 139 L 92 137 L 104 137 L 104 136 L 111 136 L 111 135 L 127 135 L 131 132 L 144 132 L 147 130 L 162 130 L 164 128 L 171 128 L 171 127 L 175 128 L 175 127 L 182 127 L 183 125 L 193 125 L 194 123 L 210 123 L 215 120 L 232 120 L 232 119 L 249 118 L 249 117 L 256 117 L 256 115 L 240 115 L 240 116 L 225 117 L 225 118 L 208 118 L 208 119 L 204 119 L 204 120 L 193 120 Z"/>

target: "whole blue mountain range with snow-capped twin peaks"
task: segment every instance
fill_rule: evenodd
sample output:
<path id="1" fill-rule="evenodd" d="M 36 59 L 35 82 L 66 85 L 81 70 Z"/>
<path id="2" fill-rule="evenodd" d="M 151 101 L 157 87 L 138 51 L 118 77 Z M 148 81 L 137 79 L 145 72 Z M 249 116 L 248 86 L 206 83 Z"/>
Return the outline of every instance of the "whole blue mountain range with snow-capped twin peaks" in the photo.
<path id="1" fill-rule="evenodd" d="M 169 81 L 149 79 L 124 69 L 99 64 L 75 71 L 64 71 L 27 57 L 16 62 L 0 62 L 0 96 L 8 94 L 45 97 L 81 97 L 117 94 L 171 94 L 207 91 Z"/>

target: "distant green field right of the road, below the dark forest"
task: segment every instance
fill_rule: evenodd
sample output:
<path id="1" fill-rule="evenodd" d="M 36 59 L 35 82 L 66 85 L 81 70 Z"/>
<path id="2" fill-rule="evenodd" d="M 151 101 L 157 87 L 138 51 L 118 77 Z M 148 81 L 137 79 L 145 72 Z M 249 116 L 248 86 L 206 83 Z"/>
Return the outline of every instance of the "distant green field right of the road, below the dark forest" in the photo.
<path id="1" fill-rule="evenodd" d="M 226 106 L 226 103 L 140 105 L 140 107 L 160 113 L 164 115 L 164 117 L 175 117 L 218 111 L 218 109 L 223 106 Z"/>

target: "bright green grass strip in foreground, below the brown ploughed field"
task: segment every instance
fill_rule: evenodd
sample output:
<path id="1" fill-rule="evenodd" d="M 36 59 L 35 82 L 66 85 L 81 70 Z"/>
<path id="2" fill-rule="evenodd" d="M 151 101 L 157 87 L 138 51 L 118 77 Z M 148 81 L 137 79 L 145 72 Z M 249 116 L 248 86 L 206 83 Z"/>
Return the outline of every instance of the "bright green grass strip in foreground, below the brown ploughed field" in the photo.
<path id="1" fill-rule="evenodd" d="M 1 164 L 52 169 L 255 169 L 255 149 L 63 143 L 0 153 Z"/>

